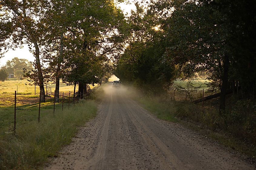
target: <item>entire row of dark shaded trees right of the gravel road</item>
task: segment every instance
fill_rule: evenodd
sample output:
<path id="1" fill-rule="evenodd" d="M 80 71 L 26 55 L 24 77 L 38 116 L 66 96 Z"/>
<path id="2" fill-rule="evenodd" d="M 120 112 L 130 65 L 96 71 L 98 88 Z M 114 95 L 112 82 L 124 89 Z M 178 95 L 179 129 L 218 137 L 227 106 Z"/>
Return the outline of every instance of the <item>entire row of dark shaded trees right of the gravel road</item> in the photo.
<path id="1" fill-rule="evenodd" d="M 128 18 L 127 48 L 115 75 L 138 86 L 166 89 L 176 78 L 207 73 L 220 91 L 220 114 L 228 89 L 254 96 L 256 2 L 173 0 L 136 4 Z"/>

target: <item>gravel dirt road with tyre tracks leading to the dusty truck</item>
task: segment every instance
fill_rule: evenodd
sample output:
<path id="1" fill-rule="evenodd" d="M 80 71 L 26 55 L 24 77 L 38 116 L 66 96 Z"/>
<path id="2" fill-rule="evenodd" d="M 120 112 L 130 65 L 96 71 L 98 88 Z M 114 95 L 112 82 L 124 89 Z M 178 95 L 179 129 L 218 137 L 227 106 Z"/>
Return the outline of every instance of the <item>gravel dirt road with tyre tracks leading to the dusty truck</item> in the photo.
<path id="1" fill-rule="evenodd" d="M 108 88 L 98 116 L 46 169 L 254 169 L 205 138 Z"/>

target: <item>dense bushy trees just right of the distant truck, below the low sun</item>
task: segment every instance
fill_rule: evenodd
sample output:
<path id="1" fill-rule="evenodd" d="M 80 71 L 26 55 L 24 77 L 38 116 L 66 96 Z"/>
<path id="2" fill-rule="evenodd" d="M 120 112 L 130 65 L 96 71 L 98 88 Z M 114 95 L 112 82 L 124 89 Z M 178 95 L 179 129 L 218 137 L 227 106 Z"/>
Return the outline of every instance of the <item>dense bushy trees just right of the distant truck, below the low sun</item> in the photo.
<path id="1" fill-rule="evenodd" d="M 161 90 L 175 79 L 175 66 L 163 58 L 166 40 L 158 30 L 157 15 L 136 4 L 128 18 L 127 47 L 117 61 L 115 75 L 122 81 L 134 82 L 148 92 Z M 150 90 L 152 89 L 152 90 Z"/>

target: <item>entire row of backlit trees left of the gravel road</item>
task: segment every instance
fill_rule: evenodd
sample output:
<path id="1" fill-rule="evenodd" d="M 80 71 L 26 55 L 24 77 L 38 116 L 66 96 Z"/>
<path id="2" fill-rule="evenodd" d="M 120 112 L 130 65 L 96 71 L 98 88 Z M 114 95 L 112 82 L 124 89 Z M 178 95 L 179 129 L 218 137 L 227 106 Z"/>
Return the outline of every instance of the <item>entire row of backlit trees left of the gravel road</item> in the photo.
<path id="1" fill-rule="evenodd" d="M 5 0 L 0 8 L 1 55 L 28 44 L 35 69 L 24 75 L 39 85 L 42 102 L 48 81 L 56 83 L 56 102 L 60 79 L 78 84 L 78 93 L 100 83 L 121 49 L 126 22 L 114 1 Z"/>

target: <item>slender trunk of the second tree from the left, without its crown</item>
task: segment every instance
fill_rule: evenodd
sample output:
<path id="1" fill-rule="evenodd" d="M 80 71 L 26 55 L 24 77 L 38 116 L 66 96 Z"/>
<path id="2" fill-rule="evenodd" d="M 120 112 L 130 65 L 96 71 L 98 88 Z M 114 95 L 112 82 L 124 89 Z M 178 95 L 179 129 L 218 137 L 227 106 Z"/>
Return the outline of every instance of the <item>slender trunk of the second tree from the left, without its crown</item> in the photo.
<path id="1" fill-rule="evenodd" d="M 61 41 L 60 41 L 60 55 L 58 58 L 58 65 L 57 65 L 57 70 L 56 70 L 56 85 L 55 85 L 55 92 L 56 92 L 56 98 L 55 102 L 59 102 L 59 89 L 60 89 L 60 69 L 61 69 L 61 63 L 63 60 L 63 34 L 64 31 L 62 30 L 61 33 Z"/>

